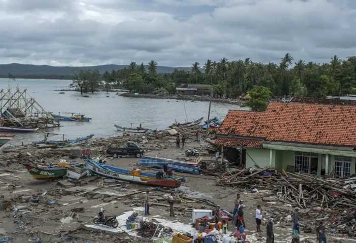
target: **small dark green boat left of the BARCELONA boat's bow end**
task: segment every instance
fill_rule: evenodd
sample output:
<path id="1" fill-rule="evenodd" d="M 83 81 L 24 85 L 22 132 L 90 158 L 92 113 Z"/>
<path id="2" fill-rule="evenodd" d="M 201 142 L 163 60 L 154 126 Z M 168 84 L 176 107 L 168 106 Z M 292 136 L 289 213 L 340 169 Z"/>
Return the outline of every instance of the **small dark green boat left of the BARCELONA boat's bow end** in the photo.
<path id="1" fill-rule="evenodd" d="M 26 169 L 34 179 L 48 180 L 62 178 L 67 174 L 66 167 L 39 167 L 37 165 L 25 164 Z"/>

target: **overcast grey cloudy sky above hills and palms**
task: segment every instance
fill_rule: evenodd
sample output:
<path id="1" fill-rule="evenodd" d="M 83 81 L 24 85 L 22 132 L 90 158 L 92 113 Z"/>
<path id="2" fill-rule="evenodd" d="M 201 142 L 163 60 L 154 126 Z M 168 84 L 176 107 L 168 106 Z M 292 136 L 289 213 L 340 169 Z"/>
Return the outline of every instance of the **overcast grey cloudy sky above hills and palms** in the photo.
<path id="1" fill-rule="evenodd" d="M 0 63 L 356 55 L 356 0 L 0 0 Z"/>

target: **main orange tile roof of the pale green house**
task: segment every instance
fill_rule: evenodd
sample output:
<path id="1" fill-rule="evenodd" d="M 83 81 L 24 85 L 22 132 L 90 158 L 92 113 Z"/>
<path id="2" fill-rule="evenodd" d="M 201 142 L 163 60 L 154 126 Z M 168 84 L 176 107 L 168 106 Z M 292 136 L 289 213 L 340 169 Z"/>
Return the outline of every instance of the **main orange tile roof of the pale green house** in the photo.
<path id="1" fill-rule="evenodd" d="M 264 112 L 230 110 L 217 133 L 356 147 L 356 106 L 271 102 Z"/>

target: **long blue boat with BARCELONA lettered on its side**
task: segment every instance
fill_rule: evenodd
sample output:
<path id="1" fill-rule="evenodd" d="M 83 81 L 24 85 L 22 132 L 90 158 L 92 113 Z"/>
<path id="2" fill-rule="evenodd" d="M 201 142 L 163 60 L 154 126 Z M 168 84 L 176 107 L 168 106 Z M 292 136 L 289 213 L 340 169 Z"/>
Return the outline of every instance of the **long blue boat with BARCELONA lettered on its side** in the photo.
<path id="1" fill-rule="evenodd" d="M 179 187 L 182 184 L 179 178 L 157 179 L 154 173 L 141 172 L 140 170 L 129 170 L 114 167 L 88 159 L 85 161 L 87 169 L 93 173 L 117 180 L 129 181 L 147 186 Z"/>

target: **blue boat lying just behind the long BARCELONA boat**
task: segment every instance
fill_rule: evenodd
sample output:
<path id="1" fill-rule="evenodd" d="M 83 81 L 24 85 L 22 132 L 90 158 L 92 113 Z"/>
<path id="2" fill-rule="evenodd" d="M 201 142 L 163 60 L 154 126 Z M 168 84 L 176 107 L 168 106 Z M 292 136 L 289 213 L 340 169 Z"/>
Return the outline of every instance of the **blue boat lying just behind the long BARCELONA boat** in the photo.
<path id="1" fill-rule="evenodd" d="M 167 164 L 168 169 L 173 169 L 175 171 L 191 173 L 196 175 L 199 175 L 201 172 L 201 168 L 198 163 L 184 162 L 175 159 L 143 157 L 137 163 L 138 166 L 142 166 L 142 167 L 159 167 L 159 168 L 163 168 L 164 164 Z"/>

